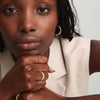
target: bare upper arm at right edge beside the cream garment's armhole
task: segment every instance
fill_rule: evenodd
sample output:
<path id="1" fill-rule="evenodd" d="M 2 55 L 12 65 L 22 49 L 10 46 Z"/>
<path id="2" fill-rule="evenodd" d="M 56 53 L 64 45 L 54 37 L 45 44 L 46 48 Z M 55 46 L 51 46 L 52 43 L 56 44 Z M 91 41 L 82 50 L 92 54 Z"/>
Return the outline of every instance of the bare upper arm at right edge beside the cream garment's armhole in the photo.
<path id="1" fill-rule="evenodd" d="M 91 40 L 90 48 L 90 74 L 100 71 L 100 41 Z"/>

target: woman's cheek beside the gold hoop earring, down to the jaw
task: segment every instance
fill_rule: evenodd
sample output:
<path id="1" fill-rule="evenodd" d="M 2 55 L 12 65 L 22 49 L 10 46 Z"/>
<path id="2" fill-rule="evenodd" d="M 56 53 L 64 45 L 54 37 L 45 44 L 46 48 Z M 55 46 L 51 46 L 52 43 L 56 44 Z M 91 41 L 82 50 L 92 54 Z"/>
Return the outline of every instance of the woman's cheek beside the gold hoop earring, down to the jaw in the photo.
<path id="1" fill-rule="evenodd" d="M 46 50 L 48 50 L 48 48 L 50 47 L 53 39 L 54 39 L 54 35 L 55 35 L 55 29 L 57 26 L 57 19 L 53 19 L 53 20 L 45 20 L 45 21 L 41 21 L 39 23 L 39 36 L 41 37 L 43 44 L 41 47 L 42 53 L 46 52 Z"/>

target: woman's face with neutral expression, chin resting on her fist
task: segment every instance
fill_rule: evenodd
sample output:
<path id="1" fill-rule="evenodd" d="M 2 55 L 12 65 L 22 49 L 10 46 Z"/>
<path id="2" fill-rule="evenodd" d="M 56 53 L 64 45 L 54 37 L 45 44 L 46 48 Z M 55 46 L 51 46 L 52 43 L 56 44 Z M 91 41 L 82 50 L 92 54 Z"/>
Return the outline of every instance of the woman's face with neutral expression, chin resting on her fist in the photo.
<path id="1" fill-rule="evenodd" d="M 45 54 L 57 22 L 56 0 L 0 0 L 0 32 L 15 57 Z"/>

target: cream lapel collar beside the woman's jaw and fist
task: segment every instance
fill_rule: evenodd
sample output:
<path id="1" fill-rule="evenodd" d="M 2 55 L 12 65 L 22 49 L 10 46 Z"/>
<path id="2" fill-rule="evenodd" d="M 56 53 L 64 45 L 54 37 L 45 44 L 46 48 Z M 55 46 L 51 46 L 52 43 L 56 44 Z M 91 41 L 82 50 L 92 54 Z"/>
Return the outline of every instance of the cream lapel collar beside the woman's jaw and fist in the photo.
<path id="1" fill-rule="evenodd" d="M 50 46 L 50 55 L 48 65 L 55 70 L 50 76 L 55 79 L 59 79 L 66 74 L 66 68 L 64 65 L 63 55 L 61 51 L 61 45 L 59 39 L 55 38 Z"/>

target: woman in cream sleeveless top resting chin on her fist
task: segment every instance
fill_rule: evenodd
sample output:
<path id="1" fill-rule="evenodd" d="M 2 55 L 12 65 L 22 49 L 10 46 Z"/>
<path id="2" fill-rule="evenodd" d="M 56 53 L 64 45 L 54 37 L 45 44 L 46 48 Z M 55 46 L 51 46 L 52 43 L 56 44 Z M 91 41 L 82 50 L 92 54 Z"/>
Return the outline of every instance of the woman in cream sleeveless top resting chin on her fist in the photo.
<path id="1" fill-rule="evenodd" d="M 100 70 L 100 43 L 74 27 L 68 0 L 0 0 L 0 99 L 100 98 L 75 97 L 87 95 L 89 71 Z"/>

